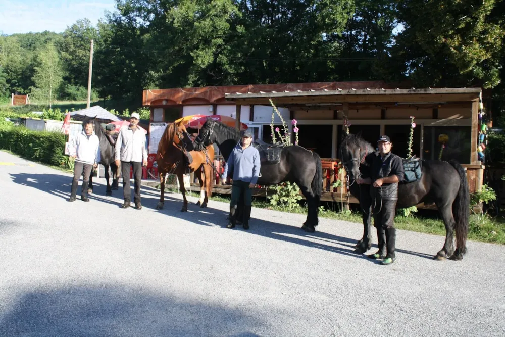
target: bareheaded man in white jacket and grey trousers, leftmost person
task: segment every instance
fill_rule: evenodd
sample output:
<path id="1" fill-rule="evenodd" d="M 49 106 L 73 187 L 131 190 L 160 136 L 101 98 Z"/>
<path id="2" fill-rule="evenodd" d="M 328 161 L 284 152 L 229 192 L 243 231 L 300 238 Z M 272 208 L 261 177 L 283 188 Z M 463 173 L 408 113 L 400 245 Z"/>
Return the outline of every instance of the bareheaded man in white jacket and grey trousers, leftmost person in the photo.
<path id="1" fill-rule="evenodd" d="M 70 198 L 68 201 L 75 201 L 77 194 L 77 186 L 79 185 L 79 178 L 82 177 L 82 190 L 81 200 L 89 201 L 86 196 L 89 184 L 89 175 L 91 169 L 96 168 L 97 163 L 100 161 L 100 140 L 94 134 L 94 123 L 87 121 L 84 124 L 84 130 L 72 138 L 70 142 L 70 155 L 75 158 L 74 164 L 74 178 L 72 180 L 72 188 L 70 191 Z"/>

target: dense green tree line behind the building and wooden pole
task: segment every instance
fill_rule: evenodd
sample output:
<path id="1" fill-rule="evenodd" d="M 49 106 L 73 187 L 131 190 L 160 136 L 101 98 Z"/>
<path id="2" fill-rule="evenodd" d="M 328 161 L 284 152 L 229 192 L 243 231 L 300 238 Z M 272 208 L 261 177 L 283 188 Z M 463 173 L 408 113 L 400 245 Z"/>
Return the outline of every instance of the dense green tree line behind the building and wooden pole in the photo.
<path id="1" fill-rule="evenodd" d="M 97 26 L 0 37 L 0 95 L 315 81 L 481 86 L 503 97 L 505 0 L 118 0 Z M 50 79 L 48 79 L 50 78 Z M 52 93 L 49 93 L 49 87 Z"/>

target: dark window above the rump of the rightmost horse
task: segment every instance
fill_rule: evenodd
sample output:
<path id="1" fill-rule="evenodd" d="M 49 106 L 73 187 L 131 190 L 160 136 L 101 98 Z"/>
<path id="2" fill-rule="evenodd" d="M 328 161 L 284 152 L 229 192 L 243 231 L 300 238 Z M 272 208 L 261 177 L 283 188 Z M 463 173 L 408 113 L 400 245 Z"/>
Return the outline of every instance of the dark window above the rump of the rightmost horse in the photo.
<path id="1" fill-rule="evenodd" d="M 423 137 L 423 159 L 438 159 L 442 142 L 439 136 L 445 134 L 445 148 L 442 160 L 455 159 L 462 164 L 470 164 L 472 131 L 470 126 L 425 126 Z"/>

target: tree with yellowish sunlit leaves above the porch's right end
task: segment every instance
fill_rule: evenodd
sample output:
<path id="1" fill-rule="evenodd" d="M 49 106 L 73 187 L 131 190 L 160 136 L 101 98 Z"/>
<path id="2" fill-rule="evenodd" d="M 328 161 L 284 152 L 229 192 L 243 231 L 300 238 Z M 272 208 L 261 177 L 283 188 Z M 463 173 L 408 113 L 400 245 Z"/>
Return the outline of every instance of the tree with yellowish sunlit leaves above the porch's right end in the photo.
<path id="1" fill-rule="evenodd" d="M 418 86 L 493 87 L 500 82 L 503 17 L 499 1 L 401 0 L 393 56 Z"/>

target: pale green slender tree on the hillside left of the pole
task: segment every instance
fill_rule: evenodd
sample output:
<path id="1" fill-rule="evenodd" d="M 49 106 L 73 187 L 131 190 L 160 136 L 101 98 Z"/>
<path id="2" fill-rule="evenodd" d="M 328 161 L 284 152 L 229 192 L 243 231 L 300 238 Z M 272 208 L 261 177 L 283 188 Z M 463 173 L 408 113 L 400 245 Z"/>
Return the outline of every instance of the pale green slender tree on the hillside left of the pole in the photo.
<path id="1" fill-rule="evenodd" d="M 38 65 L 35 67 L 32 87 L 32 95 L 35 99 L 47 102 L 49 109 L 56 100 L 57 90 L 63 80 L 60 58 L 54 44 L 47 44 L 37 58 Z"/>

